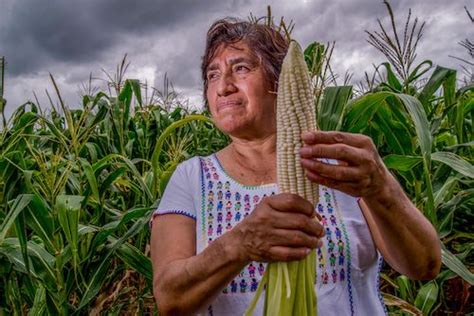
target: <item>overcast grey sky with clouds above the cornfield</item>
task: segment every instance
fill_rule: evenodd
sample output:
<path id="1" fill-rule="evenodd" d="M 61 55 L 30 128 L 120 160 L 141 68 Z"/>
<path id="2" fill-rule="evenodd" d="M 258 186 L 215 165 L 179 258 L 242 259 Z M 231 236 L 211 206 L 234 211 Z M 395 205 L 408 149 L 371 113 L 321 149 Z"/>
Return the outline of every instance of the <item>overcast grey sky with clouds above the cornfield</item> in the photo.
<path id="1" fill-rule="evenodd" d="M 474 1 L 391 3 L 401 26 L 409 8 L 413 17 L 426 21 L 418 62 L 432 59 L 460 69 L 460 62 L 448 55 L 468 56 L 457 43 L 474 38 L 474 25 L 463 8 L 474 13 Z M 293 37 L 303 46 L 336 41 L 333 66 L 341 76 L 350 71 L 356 81 L 373 63 L 384 60 L 366 42 L 364 32 L 378 29 L 377 18 L 388 27 L 380 0 L 0 0 L 0 56 L 8 63 L 6 113 L 33 100 L 33 91 L 46 106 L 44 90 L 53 91 L 50 72 L 66 103 L 77 107 L 81 82 L 91 72 L 101 78 L 101 69 L 114 72 L 125 53 L 131 61 L 128 78 L 160 88 L 167 73 L 175 90 L 200 107 L 199 67 L 208 27 L 225 16 L 263 16 L 268 4 L 276 18 L 295 22 Z"/>

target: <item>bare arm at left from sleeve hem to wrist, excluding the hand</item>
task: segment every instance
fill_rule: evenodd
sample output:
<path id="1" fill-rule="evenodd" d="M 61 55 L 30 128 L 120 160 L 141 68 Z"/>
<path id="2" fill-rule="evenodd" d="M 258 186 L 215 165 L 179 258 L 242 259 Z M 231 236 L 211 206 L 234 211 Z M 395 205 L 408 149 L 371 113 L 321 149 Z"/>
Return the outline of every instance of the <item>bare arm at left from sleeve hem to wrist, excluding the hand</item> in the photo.
<path id="1" fill-rule="evenodd" d="M 153 221 L 153 294 L 160 315 L 190 315 L 209 302 L 247 264 L 226 233 L 196 255 L 196 221 L 176 214 Z"/>

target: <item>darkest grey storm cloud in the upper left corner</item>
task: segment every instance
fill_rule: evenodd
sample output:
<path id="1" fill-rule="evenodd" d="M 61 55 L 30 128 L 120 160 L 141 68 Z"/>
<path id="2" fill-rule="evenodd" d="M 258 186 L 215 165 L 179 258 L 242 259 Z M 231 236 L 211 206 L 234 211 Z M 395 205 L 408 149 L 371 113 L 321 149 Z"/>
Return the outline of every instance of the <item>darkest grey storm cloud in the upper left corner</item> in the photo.
<path id="1" fill-rule="evenodd" d="M 5 0 L 3 0 L 5 1 Z M 55 62 L 94 61 L 130 36 L 149 36 L 190 23 L 203 6 L 219 1 L 17 1 L 4 17 L 0 53 L 12 75 L 31 73 Z M 2 14 L 5 15 L 5 13 Z M 152 38 L 152 37 L 151 37 Z"/>

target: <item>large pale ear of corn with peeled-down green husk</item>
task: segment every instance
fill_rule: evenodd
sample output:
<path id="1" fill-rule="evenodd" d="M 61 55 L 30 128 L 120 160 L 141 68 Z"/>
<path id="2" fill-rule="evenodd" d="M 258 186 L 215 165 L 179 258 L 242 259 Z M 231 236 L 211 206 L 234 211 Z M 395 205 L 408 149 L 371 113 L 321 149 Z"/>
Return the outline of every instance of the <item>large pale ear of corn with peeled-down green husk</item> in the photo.
<path id="1" fill-rule="evenodd" d="M 308 69 L 297 42 L 291 41 L 283 61 L 277 97 L 277 180 L 280 193 L 298 194 L 317 203 L 318 186 L 301 167 L 301 133 L 316 130 Z M 246 315 L 252 315 L 266 286 L 265 315 L 316 315 L 316 252 L 301 261 L 269 263 Z"/>

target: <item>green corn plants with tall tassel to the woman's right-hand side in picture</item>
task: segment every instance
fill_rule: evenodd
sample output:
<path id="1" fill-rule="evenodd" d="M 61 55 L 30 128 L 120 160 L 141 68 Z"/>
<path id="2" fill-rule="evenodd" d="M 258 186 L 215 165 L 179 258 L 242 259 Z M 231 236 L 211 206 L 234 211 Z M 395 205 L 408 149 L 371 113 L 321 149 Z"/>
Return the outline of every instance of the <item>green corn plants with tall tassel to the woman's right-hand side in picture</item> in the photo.
<path id="1" fill-rule="evenodd" d="M 384 298 L 393 306 L 391 311 L 420 315 L 467 312 L 469 287 L 474 284 L 474 86 L 456 88 L 456 71 L 441 66 L 433 70 L 430 60 L 410 71 L 424 24 L 416 31 L 415 19 L 409 27 L 409 13 L 400 45 L 394 14 L 388 2 L 384 3 L 394 36 L 381 24 L 380 33 L 368 34 L 369 42 L 388 59 L 380 65 L 385 78 L 357 98 L 353 98 L 352 86 L 326 87 L 317 104 L 318 126 L 369 135 L 387 167 L 438 231 L 443 270 L 435 280 L 410 281 L 391 270 L 383 274 Z M 410 47 L 410 43 L 415 44 Z M 315 53 L 308 49 L 306 54 L 310 61 Z M 311 63 L 308 67 L 311 69 Z M 431 76 L 423 83 L 419 79 L 429 70 Z M 453 292 L 453 284 L 461 290 Z"/>

